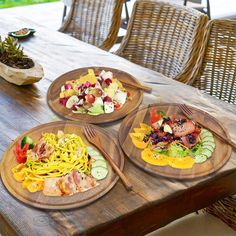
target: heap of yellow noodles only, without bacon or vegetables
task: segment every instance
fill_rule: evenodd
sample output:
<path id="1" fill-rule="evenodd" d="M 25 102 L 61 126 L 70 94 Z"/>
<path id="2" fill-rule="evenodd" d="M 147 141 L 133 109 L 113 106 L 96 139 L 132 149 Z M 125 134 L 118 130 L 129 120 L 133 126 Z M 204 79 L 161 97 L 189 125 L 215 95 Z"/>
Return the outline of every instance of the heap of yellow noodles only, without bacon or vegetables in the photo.
<path id="1" fill-rule="evenodd" d="M 33 160 L 32 152 L 29 151 L 25 167 L 20 170 L 26 174 L 25 179 L 42 181 L 45 178 L 66 175 L 74 169 L 79 172 L 90 172 L 87 147 L 81 137 L 75 134 L 58 136 L 44 133 L 42 139 L 54 151 L 43 161 Z"/>

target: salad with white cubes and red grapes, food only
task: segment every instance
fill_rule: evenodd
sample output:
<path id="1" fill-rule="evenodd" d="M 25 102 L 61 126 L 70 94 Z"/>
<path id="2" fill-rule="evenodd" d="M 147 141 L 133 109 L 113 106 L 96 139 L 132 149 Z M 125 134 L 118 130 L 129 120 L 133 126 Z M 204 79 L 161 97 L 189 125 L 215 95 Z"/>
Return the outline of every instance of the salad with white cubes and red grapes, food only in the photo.
<path id="1" fill-rule="evenodd" d="M 132 95 L 111 71 L 95 75 L 93 69 L 76 80 L 61 86 L 60 104 L 73 113 L 97 116 L 120 109 Z"/>

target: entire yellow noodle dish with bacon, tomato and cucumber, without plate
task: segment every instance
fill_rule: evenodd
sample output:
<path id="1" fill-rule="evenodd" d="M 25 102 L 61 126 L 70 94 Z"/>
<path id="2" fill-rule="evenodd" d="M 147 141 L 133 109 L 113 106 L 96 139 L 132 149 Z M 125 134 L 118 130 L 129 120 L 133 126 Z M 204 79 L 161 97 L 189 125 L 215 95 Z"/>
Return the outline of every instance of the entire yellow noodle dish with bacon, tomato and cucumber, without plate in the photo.
<path id="1" fill-rule="evenodd" d="M 108 174 L 105 159 L 80 136 L 62 131 L 43 133 L 37 143 L 25 136 L 14 150 L 19 163 L 13 177 L 30 192 L 73 195 L 96 187 Z"/>

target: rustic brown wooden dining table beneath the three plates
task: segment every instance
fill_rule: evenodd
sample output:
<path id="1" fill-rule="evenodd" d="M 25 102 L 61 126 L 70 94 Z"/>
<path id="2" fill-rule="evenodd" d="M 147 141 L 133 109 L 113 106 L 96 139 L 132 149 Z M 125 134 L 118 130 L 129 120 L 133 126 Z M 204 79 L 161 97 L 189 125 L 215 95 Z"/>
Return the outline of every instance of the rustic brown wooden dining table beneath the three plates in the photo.
<path id="1" fill-rule="evenodd" d="M 27 24 L 27 23 L 28 24 Z M 235 106 L 204 95 L 94 46 L 52 32 L 23 18 L 1 15 L 0 32 L 22 27 L 37 30 L 22 42 L 26 53 L 45 69 L 45 77 L 33 86 L 17 87 L 0 79 L 0 157 L 20 133 L 41 123 L 59 120 L 48 107 L 51 82 L 69 70 L 86 66 L 118 68 L 153 87 L 143 104 L 184 102 L 218 118 L 236 140 Z M 117 136 L 121 121 L 102 125 Z M 188 213 L 236 193 L 236 153 L 218 172 L 194 180 L 153 177 L 125 159 L 124 173 L 134 185 L 127 192 L 121 181 L 104 197 L 86 207 L 68 211 L 31 208 L 13 198 L 0 182 L 0 232 L 3 235 L 143 235 Z"/>

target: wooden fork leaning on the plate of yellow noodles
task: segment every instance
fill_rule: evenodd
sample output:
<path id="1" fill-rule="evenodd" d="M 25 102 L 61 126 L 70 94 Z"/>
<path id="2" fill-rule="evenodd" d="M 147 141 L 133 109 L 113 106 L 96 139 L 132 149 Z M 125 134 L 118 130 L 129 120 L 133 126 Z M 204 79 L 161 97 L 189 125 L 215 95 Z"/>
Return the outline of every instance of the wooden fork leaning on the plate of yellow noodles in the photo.
<path id="1" fill-rule="evenodd" d="M 83 128 L 84 134 L 88 141 L 95 145 L 105 156 L 109 164 L 112 166 L 116 174 L 121 178 L 123 184 L 125 185 L 126 189 L 128 191 L 131 191 L 133 186 L 127 179 L 127 177 L 122 173 L 122 171 L 119 169 L 119 167 L 115 164 L 115 162 L 112 160 L 112 158 L 109 156 L 109 154 L 106 152 L 106 150 L 103 148 L 99 136 L 96 134 L 96 131 L 93 127 L 86 125 Z"/>

